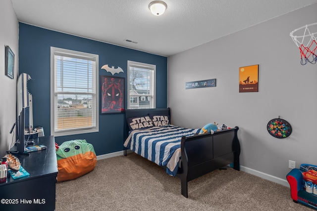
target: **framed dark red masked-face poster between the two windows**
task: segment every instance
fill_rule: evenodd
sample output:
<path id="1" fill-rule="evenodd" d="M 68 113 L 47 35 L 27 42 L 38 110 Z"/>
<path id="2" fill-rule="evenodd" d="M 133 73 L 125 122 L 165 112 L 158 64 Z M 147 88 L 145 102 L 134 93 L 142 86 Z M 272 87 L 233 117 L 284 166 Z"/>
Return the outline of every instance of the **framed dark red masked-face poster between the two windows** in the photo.
<path id="1" fill-rule="evenodd" d="M 124 78 L 100 76 L 101 113 L 124 112 Z"/>

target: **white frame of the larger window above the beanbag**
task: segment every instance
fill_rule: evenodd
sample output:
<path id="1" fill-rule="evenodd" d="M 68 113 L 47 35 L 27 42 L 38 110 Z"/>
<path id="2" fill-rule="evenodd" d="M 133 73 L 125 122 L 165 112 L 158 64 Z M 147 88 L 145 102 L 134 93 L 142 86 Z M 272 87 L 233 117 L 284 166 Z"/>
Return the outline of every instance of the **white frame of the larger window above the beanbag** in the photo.
<path id="1" fill-rule="evenodd" d="M 92 94 L 95 95 L 95 126 L 87 128 L 73 128 L 62 131 L 55 131 L 55 105 L 58 102 L 55 101 L 55 54 L 62 54 L 64 56 L 95 60 L 95 87 Z M 76 93 L 76 92 L 70 92 Z M 57 100 L 57 99 L 56 99 Z M 58 101 L 58 100 L 57 100 Z M 99 131 L 99 55 L 85 53 L 75 50 L 69 50 L 64 48 L 58 48 L 51 46 L 51 135 L 54 136 L 65 136 L 65 135 L 75 135 L 83 133 L 91 133 Z M 56 106 L 57 109 L 57 106 Z"/>

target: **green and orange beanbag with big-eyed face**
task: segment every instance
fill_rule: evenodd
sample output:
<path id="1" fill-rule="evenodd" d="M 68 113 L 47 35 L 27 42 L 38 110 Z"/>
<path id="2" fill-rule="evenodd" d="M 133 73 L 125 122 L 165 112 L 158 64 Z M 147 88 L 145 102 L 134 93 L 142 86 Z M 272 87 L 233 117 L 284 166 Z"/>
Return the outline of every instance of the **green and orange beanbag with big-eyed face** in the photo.
<path id="1" fill-rule="evenodd" d="M 62 143 L 57 151 L 57 181 L 75 179 L 95 169 L 97 156 L 92 144 L 86 140 Z"/>

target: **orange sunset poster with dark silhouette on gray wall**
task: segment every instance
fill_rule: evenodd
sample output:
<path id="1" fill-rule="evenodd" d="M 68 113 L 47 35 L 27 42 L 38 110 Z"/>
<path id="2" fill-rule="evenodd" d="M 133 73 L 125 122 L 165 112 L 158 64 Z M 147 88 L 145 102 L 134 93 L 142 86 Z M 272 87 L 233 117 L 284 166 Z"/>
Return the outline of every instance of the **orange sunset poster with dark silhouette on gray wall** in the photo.
<path id="1" fill-rule="evenodd" d="M 258 92 L 259 65 L 239 68 L 239 92 Z"/>

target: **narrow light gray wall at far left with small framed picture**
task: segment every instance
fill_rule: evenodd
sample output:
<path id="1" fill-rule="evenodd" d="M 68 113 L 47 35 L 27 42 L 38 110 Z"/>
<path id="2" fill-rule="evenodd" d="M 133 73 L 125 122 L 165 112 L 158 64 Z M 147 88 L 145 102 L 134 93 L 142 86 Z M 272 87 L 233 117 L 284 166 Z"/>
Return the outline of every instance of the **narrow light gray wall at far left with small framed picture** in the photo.
<path id="1" fill-rule="evenodd" d="M 4 75 L 5 46 L 15 55 L 14 79 Z M 18 20 L 11 0 L 0 0 L 0 155 L 5 155 L 15 135 L 10 129 L 15 122 L 16 80 L 18 76 Z M 15 130 L 14 130 L 15 131 Z"/>

